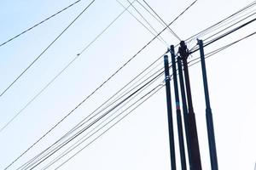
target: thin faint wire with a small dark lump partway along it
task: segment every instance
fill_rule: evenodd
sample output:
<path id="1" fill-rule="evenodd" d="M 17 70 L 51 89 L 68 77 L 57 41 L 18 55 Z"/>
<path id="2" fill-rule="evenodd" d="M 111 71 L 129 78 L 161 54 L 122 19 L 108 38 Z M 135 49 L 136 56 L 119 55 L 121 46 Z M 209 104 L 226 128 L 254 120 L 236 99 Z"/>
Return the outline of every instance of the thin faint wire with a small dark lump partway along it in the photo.
<path id="1" fill-rule="evenodd" d="M 130 6 L 131 6 L 131 5 L 129 5 L 127 8 L 129 8 Z M 122 14 L 125 13 L 125 11 L 127 10 L 127 8 L 125 8 L 125 9 L 124 9 L 124 10 L 123 10 L 123 11 L 122 11 L 122 12 L 121 12 L 121 13 L 103 30 L 103 31 L 101 31 L 88 45 L 86 45 L 86 47 L 83 48 L 83 50 L 81 50 L 81 52 L 80 52 L 79 54 L 77 54 L 76 57 L 75 57 L 74 59 L 72 59 L 58 74 L 56 74 L 55 77 L 53 77 L 53 79 L 51 79 L 51 80 L 44 86 L 44 88 L 42 88 L 42 89 L 38 92 L 38 94 L 36 94 L 31 100 L 29 100 L 29 102 L 27 102 L 26 105 L 25 105 L 24 107 L 22 107 L 22 108 L 20 109 L 20 111 L 18 111 L 18 112 L 15 114 L 15 116 L 13 116 L 13 117 L 9 120 L 9 122 L 7 122 L 3 127 L 1 127 L 0 133 L 1 133 L 6 127 L 8 127 L 9 124 L 10 124 L 11 122 L 13 122 L 13 121 L 15 120 L 15 118 L 16 118 L 17 116 L 19 116 L 22 111 L 24 111 L 24 110 L 26 109 L 27 106 L 31 105 L 32 102 L 33 102 L 35 99 L 37 99 L 38 96 L 40 96 L 40 95 L 44 92 L 44 90 L 49 87 L 50 84 L 52 84 L 53 82 L 55 82 L 55 80 L 56 80 L 58 77 L 60 77 L 61 74 L 62 74 L 64 71 L 66 71 L 67 68 L 68 68 L 70 65 L 72 65 L 75 60 L 79 59 L 79 56 L 80 56 L 81 54 L 83 54 L 84 51 L 85 51 L 86 49 L 88 49 L 88 48 L 93 44 L 93 42 L 96 42 L 96 40 L 97 40 L 99 37 L 101 37 L 102 34 L 103 34 L 104 32 L 106 32 L 110 26 L 113 26 L 113 23 L 114 23 L 116 20 L 118 20 L 119 17 L 120 17 Z"/>

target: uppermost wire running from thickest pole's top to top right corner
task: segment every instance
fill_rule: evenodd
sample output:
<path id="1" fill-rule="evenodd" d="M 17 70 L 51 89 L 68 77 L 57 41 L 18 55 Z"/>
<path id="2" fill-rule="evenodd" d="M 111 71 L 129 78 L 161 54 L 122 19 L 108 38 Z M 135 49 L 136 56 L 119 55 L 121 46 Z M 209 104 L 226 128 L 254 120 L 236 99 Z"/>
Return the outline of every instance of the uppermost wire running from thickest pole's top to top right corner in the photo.
<path id="1" fill-rule="evenodd" d="M 248 8 L 253 7 L 253 5 L 255 5 L 255 4 L 256 4 L 256 1 L 253 1 L 253 3 L 250 3 L 250 4 L 248 4 L 246 7 L 239 9 L 236 13 L 231 14 L 230 16 L 224 18 L 224 20 L 220 20 L 220 21 L 218 21 L 216 24 L 214 24 L 214 25 L 212 25 L 212 26 L 209 26 L 209 27 L 207 27 L 206 29 L 204 29 L 203 31 L 200 31 L 200 32 L 196 33 L 195 35 L 193 35 L 193 36 L 187 38 L 187 39 L 185 40 L 185 42 L 188 42 L 189 40 L 191 41 L 192 39 L 194 39 L 195 37 L 198 37 L 198 36 L 199 36 L 200 34 L 202 34 L 203 32 L 208 31 L 208 30 L 212 29 L 213 27 L 220 25 L 221 23 L 223 23 L 223 22 L 226 21 L 226 20 L 230 20 L 230 18 L 236 16 L 237 14 L 240 14 L 241 12 L 244 12 L 244 11 L 247 10 Z"/>

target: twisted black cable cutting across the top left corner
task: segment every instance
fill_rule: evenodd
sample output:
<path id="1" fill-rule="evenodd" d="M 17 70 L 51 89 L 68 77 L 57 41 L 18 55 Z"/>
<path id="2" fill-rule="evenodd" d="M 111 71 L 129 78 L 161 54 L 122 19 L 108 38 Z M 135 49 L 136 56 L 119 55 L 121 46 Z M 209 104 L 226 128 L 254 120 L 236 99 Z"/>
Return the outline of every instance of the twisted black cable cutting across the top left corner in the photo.
<path id="1" fill-rule="evenodd" d="M 9 38 L 9 40 L 7 40 L 7 41 L 5 41 L 5 42 L 2 42 L 2 43 L 0 44 L 0 47 L 3 46 L 3 45 L 5 45 L 5 44 L 8 43 L 8 42 L 13 41 L 15 38 L 20 37 L 21 35 L 25 34 L 27 31 L 31 31 L 33 28 L 35 28 L 35 27 L 37 27 L 37 26 L 43 24 L 45 21 L 47 21 L 47 20 L 49 20 L 49 19 L 55 17 L 56 15 L 61 14 L 62 12 L 64 12 L 64 11 L 67 10 L 68 8 L 73 7 L 73 5 L 79 3 L 80 1 L 81 1 L 81 0 L 78 0 L 78 1 L 76 1 L 76 2 L 74 2 L 74 3 L 72 3 L 72 4 L 70 4 L 70 5 L 68 5 L 66 8 L 62 8 L 60 11 L 56 12 L 55 14 L 50 15 L 48 18 L 46 18 L 46 19 L 44 19 L 44 20 L 38 22 L 38 23 L 35 24 L 34 26 L 31 26 L 30 28 L 26 29 L 25 31 L 21 31 L 21 32 L 20 32 L 18 35 L 16 35 L 15 37 L 11 37 L 11 38 Z"/>

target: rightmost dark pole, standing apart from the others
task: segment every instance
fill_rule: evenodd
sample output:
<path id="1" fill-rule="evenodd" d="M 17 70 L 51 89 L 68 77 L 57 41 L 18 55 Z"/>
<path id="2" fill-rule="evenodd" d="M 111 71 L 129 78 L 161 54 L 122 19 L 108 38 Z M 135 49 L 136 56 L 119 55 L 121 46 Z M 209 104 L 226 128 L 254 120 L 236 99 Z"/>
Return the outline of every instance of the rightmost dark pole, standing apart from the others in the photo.
<path id="1" fill-rule="evenodd" d="M 218 159 L 217 159 L 214 127 L 213 127 L 213 120 L 212 120 L 212 109 L 210 105 L 210 97 L 209 97 L 209 91 L 208 91 L 207 67 L 206 67 L 206 61 L 205 61 L 203 42 L 201 40 L 198 40 L 198 45 L 199 45 L 200 54 L 201 54 L 201 71 L 202 71 L 202 77 L 204 82 L 205 99 L 206 99 L 206 105 L 207 105 L 207 109 L 206 109 L 207 133 L 208 133 L 208 143 L 209 143 L 209 150 L 210 150 L 210 157 L 211 157 L 211 166 L 212 166 L 212 170 L 218 170 Z"/>

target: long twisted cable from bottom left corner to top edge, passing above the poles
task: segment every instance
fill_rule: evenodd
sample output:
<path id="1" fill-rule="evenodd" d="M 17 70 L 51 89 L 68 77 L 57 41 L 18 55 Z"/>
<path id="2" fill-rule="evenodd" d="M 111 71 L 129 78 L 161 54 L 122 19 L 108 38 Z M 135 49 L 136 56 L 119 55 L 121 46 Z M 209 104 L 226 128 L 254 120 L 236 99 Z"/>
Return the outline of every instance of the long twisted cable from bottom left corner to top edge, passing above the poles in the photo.
<path id="1" fill-rule="evenodd" d="M 187 8 L 185 8 L 181 14 L 178 14 L 177 17 L 176 17 L 174 20 L 172 20 L 172 22 L 171 22 L 168 26 L 171 26 L 177 19 L 179 19 L 189 8 L 191 8 L 191 7 L 195 4 L 196 1 L 197 1 L 197 0 L 195 0 L 195 1 L 194 1 L 193 3 L 191 3 Z M 93 1 L 93 2 L 94 2 L 94 1 Z M 93 3 L 93 2 L 92 2 L 92 3 Z M 113 72 L 113 74 L 112 74 L 110 77 L 108 77 L 108 79 L 107 79 L 106 81 L 102 82 L 102 84 L 101 84 L 99 87 L 97 87 L 89 96 L 87 96 L 84 100 L 82 100 L 82 101 L 79 103 L 79 105 L 77 105 L 75 108 L 73 108 L 72 111 L 70 111 L 66 116 L 64 116 L 64 117 L 61 119 L 60 122 L 57 122 L 57 123 L 55 124 L 55 126 L 51 127 L 51 128 L 49 129 L 49 131 L 47 131 L 46 133 L 44 133 L 44 135 L 43 135 L 42 137 L 40 137 L 34 144 L 32 144 L 27 150 L 25 150 L 20 156 L 18 156 L 18 157 L 15 159 L 15 161 L 18 161 L 21 156 L 24 156 L 28 150 L 31 150 L 34 145 L 38 144 L 39 141 L 41 141 L 42 139 L 44 139 L 44 137 L 45 137 L 47 134 L 49 134 L 53 129 L 55 129 L 55 127 L 57 127 L 61 122 L 63 122 L 63 121 L 67 118 L 67 116 L 70 116 L 70 115 L 73 113 L 73 111 L 77 110 L 80 105 L 82 105 L 87 99 L 90 98 L 91 95 L 95 94 L 98 89 L 102 88 L 103 85 L 105 85 L 105 84 L 106 84 L 110 79 L 112 79 L 119 71 L 121 71 L 121 70 L 125 67 L 125 65 L 128 65 L 128 64 L 131 62 L 132 59 L 135 59 L 138 54 L 140 54 L 145 48 L 148 47 L 148 45 L 149 45 L 151 42 L 154 41 L 154 39 L 156 39 L 157 37 L 159 37 L 160 34 L 161 34 L 163 31 L 166 31 L 166 29 L 167 29 L 168 26 L 166 26 L 166 27 L 165 27 L 162 31 L 160 31 L 154 38 L 152 38 L 147 44 L 145 44 L 145 45 L 143 46 L 143 48 L 141 48 L 136 54 L 134 54 L 130 59 L 128 59 L 128 60 L 125 62 L 124 65 L 122 65 L 121 67 L 119 67 L 119 69 L 118 69 L 117 71 Z M 86 48 L 87 48 L 87 47 L 86 47 Z M 82 53 L 86 50 L 86 48 L 84 48 L 80 54 L 82 54 Z M 78 56 L 79 56 L 80 54 L 78 54 Z M 15 163 L 15 161 L 12 161 L 12 162 L 9 164 L 8 167 L 5 167 L 5 168 L 4 168 L 4 170 L 8 169 L 11 165 L 13 165 L 13 164 Z"/>

